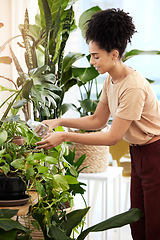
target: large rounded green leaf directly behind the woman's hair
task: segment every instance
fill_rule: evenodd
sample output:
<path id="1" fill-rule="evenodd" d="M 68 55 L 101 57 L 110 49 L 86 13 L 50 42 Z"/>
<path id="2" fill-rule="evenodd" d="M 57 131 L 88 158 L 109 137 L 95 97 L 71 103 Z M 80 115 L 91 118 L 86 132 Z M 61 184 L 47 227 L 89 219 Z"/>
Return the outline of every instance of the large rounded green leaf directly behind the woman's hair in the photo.
<path id="1" fill-rule="evenodd" d="M 101 11 L 101 8 L 98 6 L 92 7 L 88 10 L 86 10 L 84 13 L 82 13 L 82 15 L 79 18 L 79 28 L 81 29 L 82 32 L 82 36 L 85 37 L 85 33 L 86 33 L 86 21 L 88 21 L 92 15 L 98 11 Z"/>

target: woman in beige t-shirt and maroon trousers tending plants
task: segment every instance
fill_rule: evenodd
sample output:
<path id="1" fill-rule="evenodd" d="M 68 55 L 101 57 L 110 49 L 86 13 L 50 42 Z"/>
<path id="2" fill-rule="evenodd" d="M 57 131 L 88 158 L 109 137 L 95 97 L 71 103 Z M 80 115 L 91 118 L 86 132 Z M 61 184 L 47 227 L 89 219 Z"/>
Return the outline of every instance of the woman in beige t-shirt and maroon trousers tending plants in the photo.
<path id="1" fill-rule="evenodd" d="M 119 9 L 100 11 L 87 22 L 86 41 L 90 64 L 100 73 L 109 73 L 92 116 L 46 120 L 50 130 L 57 126 L 96 130 L 113 117 L 108 132 L 80 134 L 49 133 L 37 148 L 50 149 L 64 141 L 89 145 L 116 144 L 121 138 L 130 143 L 131 208 L 144 217 L 131 225 L 134 240 L 160 239 L 160 107 L 147 80 L 126 66 L 121 58 L 136 32 L 132 18 Z"/>

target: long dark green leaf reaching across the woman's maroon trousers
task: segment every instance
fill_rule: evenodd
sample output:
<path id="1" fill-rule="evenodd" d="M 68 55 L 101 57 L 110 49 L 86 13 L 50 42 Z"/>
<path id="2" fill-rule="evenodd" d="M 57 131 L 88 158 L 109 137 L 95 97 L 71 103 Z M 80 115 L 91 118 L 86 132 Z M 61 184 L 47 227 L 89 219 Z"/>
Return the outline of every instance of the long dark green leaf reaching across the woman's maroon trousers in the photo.
<path id="1" fill-rule="evenodd" d="M 101 223 L 98 223 L 90 228 L 87 228 L 85 231 L 83 231 L 77 238 L 77 240 L 84 240 L 85 237 L 90 232 L 99 232 L 99 231 L 105 231 L 111 228 L 119 228 L 127 224 L 131 224 L 133 222 L 138 221 L 143 216 L 142 212 L 137 209 L 133 208 L 127 212 L 118 214 L 112 218 L 109 218 Z"/>

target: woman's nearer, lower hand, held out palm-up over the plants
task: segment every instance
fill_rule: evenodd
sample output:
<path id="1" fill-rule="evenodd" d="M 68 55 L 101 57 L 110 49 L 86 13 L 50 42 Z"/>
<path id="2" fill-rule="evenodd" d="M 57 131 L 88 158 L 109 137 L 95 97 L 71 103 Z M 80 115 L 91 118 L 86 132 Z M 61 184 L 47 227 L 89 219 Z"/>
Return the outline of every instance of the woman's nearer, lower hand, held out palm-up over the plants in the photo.
<path id="1" fill-rule="evenodd" d="M 52 132 L 48 133 L 40 142 L 37 142 L 36 145 L 38 146 L 36 148 L 44 148 L 45 150 L 48 150 L 60 145 L 62 142 L 62 132 Z"/>

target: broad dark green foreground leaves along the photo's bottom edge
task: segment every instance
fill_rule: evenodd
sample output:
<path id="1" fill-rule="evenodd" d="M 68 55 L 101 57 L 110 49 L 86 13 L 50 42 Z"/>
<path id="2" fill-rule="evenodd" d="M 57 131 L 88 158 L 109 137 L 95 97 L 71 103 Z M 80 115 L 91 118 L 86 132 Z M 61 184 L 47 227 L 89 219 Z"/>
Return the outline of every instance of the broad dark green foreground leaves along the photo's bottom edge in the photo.
<path id="1" fill-rule="evenodd" d="M 89 208 L 74 210 L 61 217 L 53 215 L 53 221 L 48 228 L 48 232 L 44 232 L 44 239 L 84 240 L 90 232 L 99 232 L 111 228 L 122 227 L 126 224 L 136 222 L 143 215 L 139 209 L 131 209 L 125 213 L 114 216 L 101 223 L 91 226 L 84 231 L 81 231 L 77 238 L 72 237 L 71 233 L 73 228 L 82 221 L 82 218 L 87 214 L 88 210 Z M 0 234 L 3 236 L 3 240 L 15 240 L 20 234 L 21 239 L 32 239 L 29 238 L 29 230 L 24 228 L 19 222 L 10 219 L 14 214 L 15 212 L 13 210 L 0 210 Z M 35 218 L 37 217 L 35 216 Z M 42 228 L 45 227 L 45 223 L 43 221 L 40 222 Z"/>

